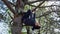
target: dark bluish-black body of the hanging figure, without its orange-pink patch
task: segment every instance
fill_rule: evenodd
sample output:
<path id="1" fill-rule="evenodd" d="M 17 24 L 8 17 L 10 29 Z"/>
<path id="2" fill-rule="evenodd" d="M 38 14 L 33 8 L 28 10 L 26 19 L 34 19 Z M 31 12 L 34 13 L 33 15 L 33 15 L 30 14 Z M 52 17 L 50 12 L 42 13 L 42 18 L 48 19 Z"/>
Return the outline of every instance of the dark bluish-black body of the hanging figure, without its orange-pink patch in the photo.
<path id="1" fill-rule="evenodd" d="M 35 13 L 33 14 L 32 11 L 29 9 L 22 17 L 22 20 L 25 23 L 25 25 L 35 25 Z"/>

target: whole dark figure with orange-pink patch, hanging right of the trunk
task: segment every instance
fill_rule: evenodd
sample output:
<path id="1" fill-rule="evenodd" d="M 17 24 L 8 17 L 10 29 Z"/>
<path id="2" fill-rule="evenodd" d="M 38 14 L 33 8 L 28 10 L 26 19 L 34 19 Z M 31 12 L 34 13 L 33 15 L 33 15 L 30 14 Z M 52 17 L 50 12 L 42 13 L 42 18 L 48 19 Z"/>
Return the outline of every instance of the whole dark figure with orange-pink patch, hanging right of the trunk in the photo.
<path id="1" fill-rule="evenodd" d="M 22 17 L 22 22 L 27 26 L 33 26 L 32 30 L 39 29 L 40 24 L 35 20 L 35 13 L 32 12 L 30 9 L 24 13 Z"/>

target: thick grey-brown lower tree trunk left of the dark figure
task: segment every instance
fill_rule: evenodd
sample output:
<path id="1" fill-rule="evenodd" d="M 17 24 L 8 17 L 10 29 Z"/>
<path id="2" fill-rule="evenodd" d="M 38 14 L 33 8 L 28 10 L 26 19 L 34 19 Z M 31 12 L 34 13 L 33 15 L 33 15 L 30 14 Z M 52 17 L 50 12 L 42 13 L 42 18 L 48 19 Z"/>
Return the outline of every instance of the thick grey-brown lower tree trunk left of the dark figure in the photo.
<path id="1" fill-rule="evenodd" d="M 22 34 L 21 16 L 14 18 L 13 25 L 11 26 L 12 34 Z"/>

